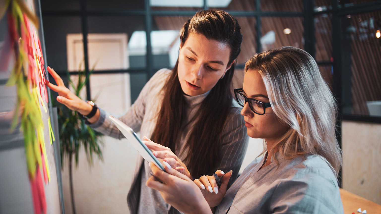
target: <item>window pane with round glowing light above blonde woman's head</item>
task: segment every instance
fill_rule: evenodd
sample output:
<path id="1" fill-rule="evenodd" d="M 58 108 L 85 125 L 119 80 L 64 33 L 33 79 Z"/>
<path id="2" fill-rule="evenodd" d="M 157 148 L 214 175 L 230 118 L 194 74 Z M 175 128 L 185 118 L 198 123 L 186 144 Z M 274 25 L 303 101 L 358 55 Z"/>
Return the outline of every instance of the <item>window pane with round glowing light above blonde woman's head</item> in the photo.
<path id="1" fill-rule="evenodd" d="M 282 46 L 303 49 L 303 18 L 263 17 L 261 44 L 263 51 Z"/>

